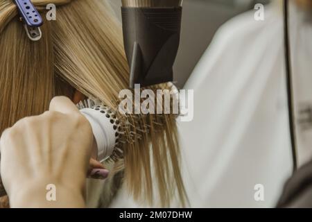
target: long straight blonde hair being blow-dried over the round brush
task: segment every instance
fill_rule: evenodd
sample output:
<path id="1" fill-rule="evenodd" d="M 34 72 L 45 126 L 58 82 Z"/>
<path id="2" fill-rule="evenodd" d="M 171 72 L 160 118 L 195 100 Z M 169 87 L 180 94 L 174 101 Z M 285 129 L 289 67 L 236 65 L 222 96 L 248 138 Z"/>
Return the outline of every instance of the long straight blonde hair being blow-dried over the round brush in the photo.
<path id="1" fill-rule="evenodd" d="M 58 6 L 56 21 L 44 21 L 38 42 L 28 39 L 15 4 L 11 0 L 0 2 L 0 132 L 18 119 L 42 113 L 55 95 L 72 98 L 76 89 L 117 110 L 118 95 L 127 87 L 129 74 L 121 25 L 109 3 L 32 2 L 38 10 L 44 10 L 48 3 Z M 136 199 L 152 203 L 157 187 L 162 206 L 169 205 L 175 192 L 184 205 L 175 115 L 118 115 L 127 142 L 123 153 L 114 158 L 112 174 L 124 171 Z M 117 184 L 110 196 L 114 196 Z"/>

